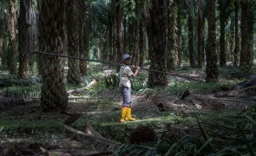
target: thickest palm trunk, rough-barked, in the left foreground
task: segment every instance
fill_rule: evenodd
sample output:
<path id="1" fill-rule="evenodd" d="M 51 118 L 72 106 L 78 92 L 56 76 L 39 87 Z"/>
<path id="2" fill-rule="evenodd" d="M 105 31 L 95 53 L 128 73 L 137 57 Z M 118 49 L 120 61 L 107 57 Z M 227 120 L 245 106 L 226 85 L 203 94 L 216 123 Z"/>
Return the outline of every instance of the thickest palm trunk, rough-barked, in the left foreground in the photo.
<path id="1" fill-rule="evenodd" d="M 40 51 L 64 54 L 64 8 L 62 0 L 42 0 L 39 15 Z M 64 60 L 60 57 L 42 55 L 42 93 L 43 111 L 66 108 L 68 94 L 63 81 Z"/>

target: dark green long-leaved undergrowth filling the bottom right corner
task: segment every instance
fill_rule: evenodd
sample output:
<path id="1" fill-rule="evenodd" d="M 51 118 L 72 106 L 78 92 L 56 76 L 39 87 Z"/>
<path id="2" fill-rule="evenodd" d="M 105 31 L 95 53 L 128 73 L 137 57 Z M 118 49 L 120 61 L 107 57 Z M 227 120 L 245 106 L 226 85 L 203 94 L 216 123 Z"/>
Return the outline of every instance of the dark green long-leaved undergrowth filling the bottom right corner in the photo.
<path id="1" fill-rule="evenodd" d="M 154 146 L 125 144 L 114 155 L 251 155 L 255 154 L 255 110 L 226 116 L 229 123 L 201 122 L 191 129 L 159 133 Z M 254 116 L 254 118 L 253 118 Z M 232 120 L 234 117 L 236 120 Z M 194 131 L 194 132 L 192 132 Z M 171 133 L 171 134 L 170 134 Z"/>

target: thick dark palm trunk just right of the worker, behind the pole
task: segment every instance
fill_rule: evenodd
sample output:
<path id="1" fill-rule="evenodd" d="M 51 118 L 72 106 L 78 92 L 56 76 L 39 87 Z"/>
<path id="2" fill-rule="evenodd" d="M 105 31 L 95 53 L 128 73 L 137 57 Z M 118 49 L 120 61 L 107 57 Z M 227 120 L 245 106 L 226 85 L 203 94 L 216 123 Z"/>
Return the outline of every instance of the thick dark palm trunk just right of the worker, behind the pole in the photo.
<path id="1" fill-rule="evenodd" d="M 166 71 L 166 46 L 167 46 L 167 21 L 165 19 L 166 6 L 164 1 L 151 0 L 152 8 L 150 10 L 149 22 L 149 60 L 150 69 Z M 167 75 L 150 72 L 148 75 L 148 86 L 167 86 Z"/>

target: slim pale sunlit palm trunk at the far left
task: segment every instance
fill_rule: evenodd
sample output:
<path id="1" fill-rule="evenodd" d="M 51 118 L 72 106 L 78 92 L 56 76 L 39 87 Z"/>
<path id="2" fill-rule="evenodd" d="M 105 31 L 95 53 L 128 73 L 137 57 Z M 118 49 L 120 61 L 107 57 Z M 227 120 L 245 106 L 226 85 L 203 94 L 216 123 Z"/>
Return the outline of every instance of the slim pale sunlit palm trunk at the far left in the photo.
<path id="1" fill-rule="evenodd" d="M 9 15 L 8 15 L 8 29 L 9 29 L 9 70 L 10 75 L 16 75 L 16 0 L 9 0 Z"/>

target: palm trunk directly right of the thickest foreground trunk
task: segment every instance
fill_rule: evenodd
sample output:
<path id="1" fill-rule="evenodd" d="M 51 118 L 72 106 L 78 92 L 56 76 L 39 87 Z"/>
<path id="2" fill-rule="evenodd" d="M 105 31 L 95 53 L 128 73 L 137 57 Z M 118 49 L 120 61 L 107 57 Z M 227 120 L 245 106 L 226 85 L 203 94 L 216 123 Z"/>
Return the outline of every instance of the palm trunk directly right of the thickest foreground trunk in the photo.
<path id="1" fill-rule="evenodd" d="M 76 57 L 79 56 L 79 1 L 73 0 L 67 2 L 68 54 Z M 68 63 L 67 81 L 70 84 L 79 85 L 79 60 L 69 59 Z"/>

